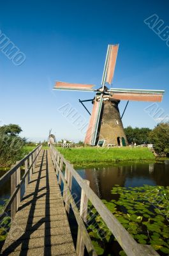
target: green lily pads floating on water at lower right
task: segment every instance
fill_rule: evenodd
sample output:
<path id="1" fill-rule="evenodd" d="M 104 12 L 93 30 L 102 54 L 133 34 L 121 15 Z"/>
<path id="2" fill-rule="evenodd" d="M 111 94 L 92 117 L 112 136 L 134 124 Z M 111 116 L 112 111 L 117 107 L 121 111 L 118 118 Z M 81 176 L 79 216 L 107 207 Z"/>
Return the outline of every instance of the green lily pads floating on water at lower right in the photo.
<path id="1" fill-rule="evenodd" d="M 115 199 L 103 203 L 140 244 L 151 244 L 159 255 L 169 254 L 169 187 L 147 186 L 122 188 L 116 185 Z M 96 209 L 89 204 L 88 230 L 98 255 L 108 255 L 117 243 Z M 113 250 L 113 249 L 112 249 Z M 122 249 L 118 254 L 125 255 Z"/>

